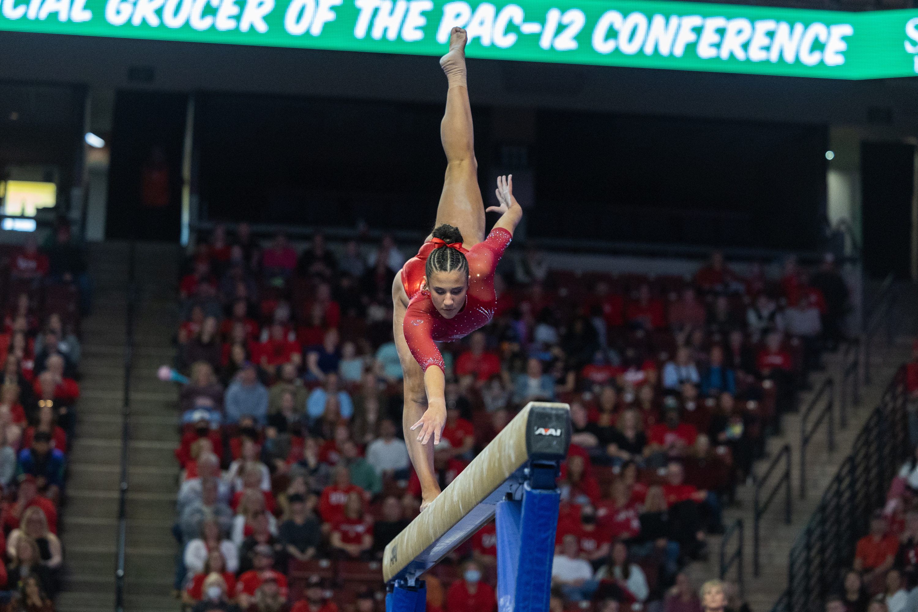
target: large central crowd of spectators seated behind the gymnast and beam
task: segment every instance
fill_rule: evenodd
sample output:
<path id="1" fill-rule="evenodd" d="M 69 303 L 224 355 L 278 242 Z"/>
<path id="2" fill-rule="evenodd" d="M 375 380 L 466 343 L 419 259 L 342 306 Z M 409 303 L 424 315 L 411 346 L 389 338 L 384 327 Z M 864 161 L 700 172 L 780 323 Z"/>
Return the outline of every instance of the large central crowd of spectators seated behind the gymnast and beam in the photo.
<path id="1" fill-rule="evenodd" d="M 378 561 L 420 508 L 391 297 L 414 253 L 321 233 L 265 245 L 218 225 L 181 279 L 176 594 L 197 612 L 381 609 Z M 811 278 L 790 258 L 771 280 L 716 252 L 689 278 L 550 270 L 532 248 L 504 260 L 494 320 L 441 347 L 440 484 L 527 402 L 566 402 L 553 609 L 700 609 L 681 568 L 708 555 L 769 428 L 842 339 L 834 262 Z M 496 555 L 491 523 L 426 574 L 429 609 L 493 608 Z"/>

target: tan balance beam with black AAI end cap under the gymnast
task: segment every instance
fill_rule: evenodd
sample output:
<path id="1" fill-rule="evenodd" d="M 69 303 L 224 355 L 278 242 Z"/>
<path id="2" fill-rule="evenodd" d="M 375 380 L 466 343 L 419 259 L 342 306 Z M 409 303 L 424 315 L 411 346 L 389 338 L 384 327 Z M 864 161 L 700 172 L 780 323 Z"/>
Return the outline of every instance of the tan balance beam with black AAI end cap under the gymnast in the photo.
<path id="1" fill-rule="evenodd" d="M 471 538 L 501 501 L 550 490 L 570 445 L 570 408 L 530 402 L 409 526 L 383 555 L 386 583 L 414 587 L 421 573 Z M 557 501 L 554 499 L 555 521 Z M 498 540 L 500 539 L 498 526 Z M 554 525 L 551 526 L 554 544 Z M 498 545 L 499 546 L 499 545 Z M 498 551 L 499 554 L 499 551 Z M 550 571 L 550 569 L 549 569 Z"/>

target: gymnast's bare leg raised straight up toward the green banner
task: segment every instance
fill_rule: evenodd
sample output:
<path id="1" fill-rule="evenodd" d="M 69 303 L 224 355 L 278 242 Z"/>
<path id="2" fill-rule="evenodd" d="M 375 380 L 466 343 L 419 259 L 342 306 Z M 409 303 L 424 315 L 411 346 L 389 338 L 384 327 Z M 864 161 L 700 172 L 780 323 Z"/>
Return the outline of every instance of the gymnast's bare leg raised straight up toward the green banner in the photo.
<path id="1" fill-rule="evenodd" d="M 440 139 L 446 153 L 446 176 L 436 225 L 448 223 L 462 232 L 466 249 L 485 239 L 485 204 L 478 188 L 478 162 L 472 108 L 465 84 L 465 30 L 453 28 L 450 50 L 440 60 L 449 82 Z"/>

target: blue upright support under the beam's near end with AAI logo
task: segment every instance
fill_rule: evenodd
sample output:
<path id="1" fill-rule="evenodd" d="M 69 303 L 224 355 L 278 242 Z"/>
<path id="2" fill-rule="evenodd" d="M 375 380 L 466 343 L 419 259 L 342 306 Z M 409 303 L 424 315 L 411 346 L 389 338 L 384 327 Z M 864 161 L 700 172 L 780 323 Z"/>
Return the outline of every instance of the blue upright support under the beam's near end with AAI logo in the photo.
<path id="1" fill-rule="evenodd" d="M 496 508 L 498 612 L 547 612 L 551 597 L 561 492 L 524 486 L 521 501 Z"/>

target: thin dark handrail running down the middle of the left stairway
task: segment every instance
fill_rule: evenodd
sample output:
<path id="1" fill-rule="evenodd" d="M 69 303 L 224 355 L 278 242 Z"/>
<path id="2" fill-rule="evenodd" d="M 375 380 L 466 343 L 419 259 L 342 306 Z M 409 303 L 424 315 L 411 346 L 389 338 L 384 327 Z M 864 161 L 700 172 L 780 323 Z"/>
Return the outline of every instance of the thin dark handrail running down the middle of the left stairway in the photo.
<path id="1" fill-rule="evenodd" d="M 134 365 L 134 306 L 137 297 L 136 244 L 130 241 L 128 259 L 128 286 L 126 329 L 124 342 L 124 405 L 121 409 L 121 480 L 118 485 L 118 566 L 115 570 L 115 612 L 124 610 L 124 557 L 128 520 L 128 450 L 130 445 L 130 375 Z"/>

